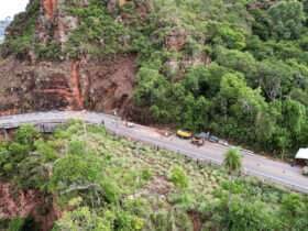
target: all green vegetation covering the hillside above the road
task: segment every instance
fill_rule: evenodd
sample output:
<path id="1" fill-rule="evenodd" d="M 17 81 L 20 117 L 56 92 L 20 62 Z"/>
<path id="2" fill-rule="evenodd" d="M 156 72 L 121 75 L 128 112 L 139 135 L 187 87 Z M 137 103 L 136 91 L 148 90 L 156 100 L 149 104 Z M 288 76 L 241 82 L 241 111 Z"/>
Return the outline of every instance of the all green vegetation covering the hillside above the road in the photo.
<path id="1" fill-rule="evenodd" d="M 67 1 L 78 28 L 63 51 L 36 44 L 37 56 L 136 53 L 135 105 L 153 121 L 209 130 L 278 157 L 307 146 L 307 0 L 132 0 L 111 11 L 108 2 Z M 29 19 L 3 47 L 23 53 L 33 25 Z"/>

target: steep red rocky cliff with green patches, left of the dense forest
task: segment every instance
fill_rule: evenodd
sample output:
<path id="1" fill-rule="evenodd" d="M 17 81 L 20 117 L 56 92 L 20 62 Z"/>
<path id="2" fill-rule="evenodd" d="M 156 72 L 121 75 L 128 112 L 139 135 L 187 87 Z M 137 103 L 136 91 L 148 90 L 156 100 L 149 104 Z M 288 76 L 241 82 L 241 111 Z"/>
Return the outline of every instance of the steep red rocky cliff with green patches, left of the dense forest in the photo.
<path id="1" fill-rule="evenodd" d="M 160 72 L 178 80 L 190 66 L 210 63 L 204 48 L 189 45 L 189 28 L 154 9 L 152 0 L 31 0 L 0 47 L 0 114 L 88 109 L 136 116 L 138 65 L 158 61 Z"/>

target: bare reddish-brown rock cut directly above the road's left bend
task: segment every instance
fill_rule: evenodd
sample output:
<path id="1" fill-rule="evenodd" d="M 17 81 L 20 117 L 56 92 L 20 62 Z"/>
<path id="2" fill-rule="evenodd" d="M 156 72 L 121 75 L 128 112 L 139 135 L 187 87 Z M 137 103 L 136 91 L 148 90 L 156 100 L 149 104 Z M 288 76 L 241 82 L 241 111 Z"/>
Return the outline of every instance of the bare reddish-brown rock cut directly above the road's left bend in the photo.
<path id="1" fill-rule="evenodd" d="M 135 56 L 99 61 L 0 63 L 0 114 L 89 109 L 125 113 L 132 105 Z"/>

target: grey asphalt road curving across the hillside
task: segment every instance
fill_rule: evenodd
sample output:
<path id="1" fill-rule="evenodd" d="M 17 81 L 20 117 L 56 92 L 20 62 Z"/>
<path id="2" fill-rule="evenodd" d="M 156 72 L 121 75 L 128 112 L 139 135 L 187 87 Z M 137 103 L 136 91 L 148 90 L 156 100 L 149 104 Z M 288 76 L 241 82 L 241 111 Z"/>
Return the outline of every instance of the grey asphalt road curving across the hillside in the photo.
<path id="1" fill-rule="evenodd" d="M 0 129 L 18 128 L 21 124 L 57 124 L 72 119 L 79 119 L 87 123 L 101 124 L 110 132 L 129 138 L 134 141 L 166 148 L 187 157 L 221 165 L 223 155 L 228 146 L 206 142 L 201 147 L 197 147 L 189 141 L 177 139 L 176 136 L 165 136 L 156 129 L 134 124 L 133 128 L 124 125 L 120 118 L 89 111 L 50 111 L 0 117 Z M 243 172 L 246 175 L 256 176 L 271 184 L 280 185 L 289 189 L 308 194 L 308 177 L 301 175 L 299 167 L 292 167 L 289 164 L 273 161 L 251 152 L 242 151 Z"/>

